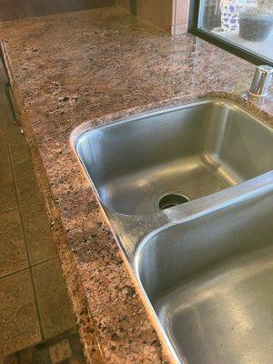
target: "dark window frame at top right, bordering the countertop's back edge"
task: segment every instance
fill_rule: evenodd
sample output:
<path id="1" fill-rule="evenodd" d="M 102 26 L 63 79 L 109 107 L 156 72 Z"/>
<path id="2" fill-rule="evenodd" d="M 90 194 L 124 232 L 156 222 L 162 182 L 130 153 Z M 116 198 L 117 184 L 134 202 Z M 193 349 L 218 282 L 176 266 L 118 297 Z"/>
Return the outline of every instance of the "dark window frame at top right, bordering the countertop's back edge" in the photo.
<path id="1" fill-rule="evenodd" d="M 254 65 L 268 65 L 273 66 L 273 60 L 270 61 L 267 58 L 258 56 L 247 49 L 241 48 L 239 45 L 235 45 L 228 42 L 226 39 L 220 36 L 214 35 L 209 31 L 198 28 L 199 8 L 202 0 L 190 0 L 189 16 L 188 16 L 188 33 L 196 35 L 199 38 L 206 40 L 213 45 L 232 53 L 233 55 L 239 56 Z"/>

